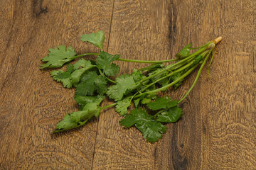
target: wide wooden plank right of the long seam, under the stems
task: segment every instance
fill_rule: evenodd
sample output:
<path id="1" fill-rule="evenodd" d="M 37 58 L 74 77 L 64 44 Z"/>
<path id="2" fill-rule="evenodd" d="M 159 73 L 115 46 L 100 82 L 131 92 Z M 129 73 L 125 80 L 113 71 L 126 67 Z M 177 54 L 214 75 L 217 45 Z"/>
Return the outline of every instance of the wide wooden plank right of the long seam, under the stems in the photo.
<path id="1" fill-rule="evenodd" d="M 253 169 L 256 166 L 253 4 L 252 1 L 114 1 L 108 47 L 112 54 L 164 60 L 189 42 L 198 46 L 219 35 L 224 39 L 218 46 L 210 79 L 206 80 L 204 69 L 195 89 L 183 101 L 185 115 L 178 123 L 167 125 L 168 130 L 159 142 L 145 142 L 135 128 L 120 128 L 121 118 L 114 109 L 102 113 L 93 169 Z M 119 65 L 122 72 L 141 67 L 120 62 Z M 181 98 L 194 77 L 169 96 Z"/>

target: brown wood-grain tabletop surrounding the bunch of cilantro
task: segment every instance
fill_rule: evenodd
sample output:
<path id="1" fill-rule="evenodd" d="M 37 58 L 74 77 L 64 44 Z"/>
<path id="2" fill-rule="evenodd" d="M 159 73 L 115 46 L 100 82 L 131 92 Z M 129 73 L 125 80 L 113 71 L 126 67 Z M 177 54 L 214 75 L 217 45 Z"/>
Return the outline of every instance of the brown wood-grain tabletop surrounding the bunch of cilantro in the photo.
<path id="1" fill-rule="evenodd" d="M 256 169 L 256 37 L 253 0 L 0 1 L 0 169 Z M 78 111 L 74 90 L 40 70 L 48 48 L 97 49 L 80 35 L 102 30 L 104 50 L 166 60 L 223 36 L 206 79 L 183 101 L 183 118 L 151 144 L 119 125 L 113 108 L 78 130 L 50 135 Z M 146 64 L 118 62 L 121 72 Z M 181 98 L 191 86 L 170 91 Z M 105 100 L 104 105 L 110 103 Z"/>

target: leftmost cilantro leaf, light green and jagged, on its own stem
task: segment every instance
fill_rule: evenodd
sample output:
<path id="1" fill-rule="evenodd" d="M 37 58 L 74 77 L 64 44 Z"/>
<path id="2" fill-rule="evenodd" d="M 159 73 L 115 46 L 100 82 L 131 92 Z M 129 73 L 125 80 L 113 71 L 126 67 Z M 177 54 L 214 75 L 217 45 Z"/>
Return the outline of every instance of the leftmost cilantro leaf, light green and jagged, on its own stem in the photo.
<path id="1" fill-rule="evenodd" d="M 42 61 L 47 62 L 46 64 L 41 64 L 40 69 L 44 68 L 60 68 L 66 62 L 70 62 L 75 59 L 76 52 L 72 47 L 67 47 L 65 50 L 64 45 L 59 45 L 58 48 L 55 47 L 49 49 L 48 56 L 43 57 Z"/>

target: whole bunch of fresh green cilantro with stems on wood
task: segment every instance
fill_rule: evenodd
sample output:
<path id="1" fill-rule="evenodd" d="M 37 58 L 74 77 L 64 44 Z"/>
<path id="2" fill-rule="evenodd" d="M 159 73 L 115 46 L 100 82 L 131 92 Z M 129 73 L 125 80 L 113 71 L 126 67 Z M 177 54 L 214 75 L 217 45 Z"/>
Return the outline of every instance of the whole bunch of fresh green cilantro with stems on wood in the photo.
<path id="1" fill-rule="evenodd" d="M 125 128 L 135 126 L 149 142 L 156 142 L 166 132 L 166 123 L 175 123 L 183 115 L 178 103 L 181 103 L 195 86 L 196 81 L 210 55 L 214 55 L 213 48 L 221 40 L 215 39 L 197 48 L 186 45 L 178 52 L 176 59 L 160 61 L 127 60 L 119 55 L 111 55 L 102 50 L 105 34 L 102 31 L 82 35 L 83 42 L 90 42 L 100 48 L 99 53 L 85 53 L 77 55 L 72 47 L 59 45 L 49 49 L 48 56 L 43 57 L 41 69 L 60 68 L 75 58 L 86 55 L 96 55 L 96 60 L 81 58 L 73 64 L 68 64 L 65 71 L 57 69 L 50 72 L 53 79 L 60 81 L 65 88 L 75 88 L 75 101 L 79 110 L 68 113 L 63 117 L 53 132 L 70 130 L 85 125 L 92 117 L 97 117 L 105 108 L 115 107 L 115 111 L 124 118 L 119 122 Z M 191 54 L 191 50 L 196 52 Z M 212 57 L 213 59 L 213 57 Z M 119 66 L 113 62 L 149 63 L 148 67 L 134 69 L 132 74 L 119 74 Z M 212 60 L 211 60 L 212 61 Z M 164 65 L 167 62 L 169 64 Z M 170 64 L 170 62 L 174 62 Z M 184 79 L 196 67 L 198 74 L 188 92 L 180 101 L 166 97 L 159 97 L 159 91 L 166 91 L 173 86 L 177 89 Z M 116 77 L 112 79 L 112 77 Z M 113 101 L 108 106 L 101 106 L 107 96 Z M 134 109 L 128 111 L 134 104 Z M 145 109 L 148 108 L 148 109 Z M 128 113 L 129 112 L 129 113 Z"/>

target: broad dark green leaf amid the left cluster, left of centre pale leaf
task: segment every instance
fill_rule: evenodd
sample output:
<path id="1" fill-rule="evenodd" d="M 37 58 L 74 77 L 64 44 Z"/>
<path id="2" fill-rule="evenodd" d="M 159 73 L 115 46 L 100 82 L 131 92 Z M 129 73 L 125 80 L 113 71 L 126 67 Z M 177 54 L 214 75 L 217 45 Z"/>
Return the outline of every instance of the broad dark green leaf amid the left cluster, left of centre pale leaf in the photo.
<path id="1" fill-rule="evenodd" d="M 107 79 L 96 72 L 86 72 L 76 86 L 76 95 L 92 96 L 96 91 L 98 94 L 104 94 L 107 90 Z"/>

